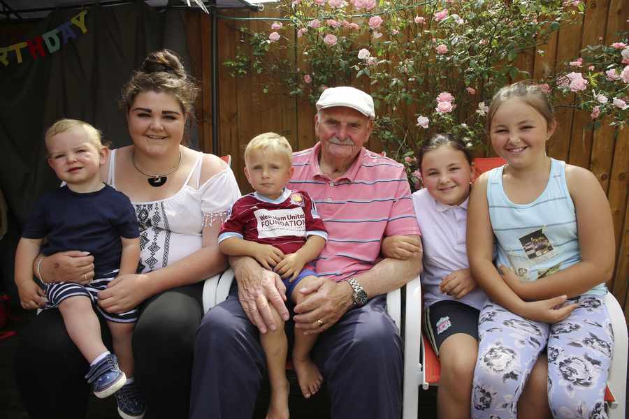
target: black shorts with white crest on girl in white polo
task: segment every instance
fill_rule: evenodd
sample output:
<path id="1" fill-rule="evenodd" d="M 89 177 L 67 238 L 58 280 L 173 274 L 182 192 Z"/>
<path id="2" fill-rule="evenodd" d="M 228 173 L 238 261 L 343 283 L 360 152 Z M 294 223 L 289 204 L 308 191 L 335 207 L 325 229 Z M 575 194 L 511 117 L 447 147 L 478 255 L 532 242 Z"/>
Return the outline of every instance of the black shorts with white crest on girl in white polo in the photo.
<path id="1" fill-rule="evenodd" d="M 474 307 L 453 300 L 435 302 L 424 309 L 424 332 L 439 356 L 445 339 L 456 333 L 465 333 L 478 341 L 478 316 Z"/>

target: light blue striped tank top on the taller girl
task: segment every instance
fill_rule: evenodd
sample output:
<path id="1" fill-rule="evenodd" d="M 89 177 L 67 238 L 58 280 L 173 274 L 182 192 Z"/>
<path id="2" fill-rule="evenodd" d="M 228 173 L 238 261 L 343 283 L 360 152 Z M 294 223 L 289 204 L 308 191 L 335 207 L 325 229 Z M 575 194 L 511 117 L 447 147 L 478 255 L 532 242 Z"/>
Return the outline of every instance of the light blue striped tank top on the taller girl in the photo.
<path id="1" fill-rule="evenodd" d="M 551 159 L 546 189 L 524 205 L 507 198 L 504 168 L 491 170 L 487 184 L 489 218 L 498 240 L 496 265 L 511 267 L 523 281 L 535 281 L 580 262 L 577 214 L 565 182 L 565 162 Z M 586 292 L 605 293 L 605 283 Z"/>

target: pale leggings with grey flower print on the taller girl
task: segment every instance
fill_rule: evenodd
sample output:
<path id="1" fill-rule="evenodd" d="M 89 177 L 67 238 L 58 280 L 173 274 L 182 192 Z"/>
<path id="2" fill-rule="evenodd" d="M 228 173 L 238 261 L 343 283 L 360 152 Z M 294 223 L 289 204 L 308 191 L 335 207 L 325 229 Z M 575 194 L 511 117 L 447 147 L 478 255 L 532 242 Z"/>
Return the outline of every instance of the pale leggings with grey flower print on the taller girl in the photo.
<path id="1" fill-rule="evenodd" d="M 607 418 L 603 397 L 614 333 L 603 297 L 581 295 L 561 323 L 530 321 L 488 302 L 479 317 L 472 419 L 515 419 L 535 360 L 547 348 L 554 418 Z"/>

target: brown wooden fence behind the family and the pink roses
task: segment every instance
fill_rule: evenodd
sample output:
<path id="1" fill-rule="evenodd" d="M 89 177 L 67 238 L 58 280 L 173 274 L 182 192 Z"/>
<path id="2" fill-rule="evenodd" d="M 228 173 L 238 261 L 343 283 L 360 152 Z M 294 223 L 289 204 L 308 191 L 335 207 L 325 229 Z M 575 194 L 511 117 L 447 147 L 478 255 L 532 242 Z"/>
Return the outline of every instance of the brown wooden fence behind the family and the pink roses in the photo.
<path id="1" fill-rule="evenodd" d="M 556 63 L 578 57 L 585 45 L 604 42 L 609 45 L 617 41 L 617 31 L 629 29 L 629 2 L 626 0 L 588 1 L 588 8 L 581 24 L 564 27 L 546 45 L 526 51 L 518 57 L 519 68 L 526 69 L 535 78 L 552 73 Z M 212 107 L 210 101 L 212 68 L 210 64 L 211 22 L 207 15 L 189 12 L 188 45 L 192 71 L 201 80 L 203 94 L 197 103 L 197 120 L 200 129 L 200 144 L 205 152 L 231 154 L 233 170 L 240 189 L 251 191 L 243 174 L 243 149 L 256 134 L 275 131 L 286 136 L 294 149 L 305 149 L 315 144 L 314 109 L 307 100 L 287 96 L 265 94 L 260 76 L 232 78 L 222 63 L 236 57 L 236 49 L 249 51 L 248 43 L 241 38 L 240 27 L 254 31 L 268 31 L 277 10 L 267 7 L 261 13 L 224 13 L 231 19 L 220 18 L 218 31 L 218 124 L 219 147 L 212 149 Z M 269 17 L 270 20 L 238 20 L 242 17 Z M 234 20 L 233 18 L 236 18 Z M 294 58 L 294 57 L 293 57 Z M 614 218 L 616 235 L 616 271 L 607 284 L 629 320 L 629 128 L 616 133 L 603 124 L 597 131 L 584 129 L 590 122 L 586 112 L 562 108 L 558 111 L 559 128 L 549 144 L 549 155 L 591 170 L 600 180 L 607 193 Z M 367 147 L 381 151 L 377 140 L 370 140 Z"/>

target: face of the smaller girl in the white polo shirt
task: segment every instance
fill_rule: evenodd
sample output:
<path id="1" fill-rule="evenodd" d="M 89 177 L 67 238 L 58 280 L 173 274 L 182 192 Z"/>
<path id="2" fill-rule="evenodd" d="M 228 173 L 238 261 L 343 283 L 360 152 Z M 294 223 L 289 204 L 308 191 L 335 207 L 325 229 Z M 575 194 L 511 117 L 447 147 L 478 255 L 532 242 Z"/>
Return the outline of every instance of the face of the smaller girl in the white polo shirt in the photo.
<path id="1" fill-rule="evenodd" d="M 426 152 L 421 159 L 424 186 L 444 205 L 459 205 L 468 198 L 473 172 L 465 153 L 449 145 Z"/>

